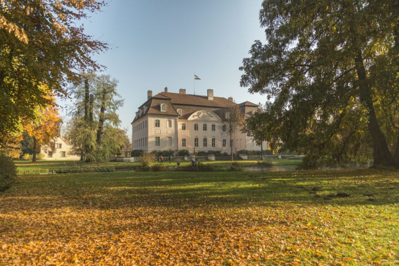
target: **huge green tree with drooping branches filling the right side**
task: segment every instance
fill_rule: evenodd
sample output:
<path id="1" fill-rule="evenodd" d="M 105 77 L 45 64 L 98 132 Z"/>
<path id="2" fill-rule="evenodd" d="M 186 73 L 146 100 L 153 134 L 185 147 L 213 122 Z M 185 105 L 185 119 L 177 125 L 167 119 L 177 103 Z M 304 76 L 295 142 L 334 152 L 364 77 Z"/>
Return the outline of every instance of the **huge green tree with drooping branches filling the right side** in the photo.
<path id="1" fill-rule="evenodd" d="M 263 2 L 267 43 L 252 45 L 240 84 L 267 94 L 272 145 L 304 167 L 399 167 L 398 14 L 393 0 Z"/>

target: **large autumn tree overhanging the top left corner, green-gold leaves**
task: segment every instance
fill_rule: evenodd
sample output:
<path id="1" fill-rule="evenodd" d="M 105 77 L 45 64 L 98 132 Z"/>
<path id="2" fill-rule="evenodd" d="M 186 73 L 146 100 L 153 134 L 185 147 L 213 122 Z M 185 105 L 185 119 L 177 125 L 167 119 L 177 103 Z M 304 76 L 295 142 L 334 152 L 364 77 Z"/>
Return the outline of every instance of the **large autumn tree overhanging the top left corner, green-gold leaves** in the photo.
<path id="1" fill-rule="evenodd" d="M 66 96 L 76 71 L 101 67 L 91 54 L 107 48 L 84 34 L 80 19 L 105 3 L 96 0 L 0 1 L 0 148 L 20 135 L 22 121 L 34 120 L 48 96 Z M 46 86 L 43 86 L 46 84 Z"/>

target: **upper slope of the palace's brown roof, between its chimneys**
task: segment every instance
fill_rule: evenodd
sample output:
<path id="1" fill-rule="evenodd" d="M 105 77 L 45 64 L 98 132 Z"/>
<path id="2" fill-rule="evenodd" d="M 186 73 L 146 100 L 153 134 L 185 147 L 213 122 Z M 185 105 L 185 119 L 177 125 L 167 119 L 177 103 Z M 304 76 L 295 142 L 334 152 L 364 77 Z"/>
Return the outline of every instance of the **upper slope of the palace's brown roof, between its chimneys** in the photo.
<path id="1" fill-rule="evenodd" d="M 193 94 L 181 94 L 174 92 L 160 92 L 154 96 L 154 98 L 170 99 L 172 104 L 182 105 L 195 105 L 195 106 L 207 106 L 207 107 L 227 107 L 232 101 L 223 97 L 213 97 L 213 100 L 208 100 L 207 96 L 193 95 Z"/>

